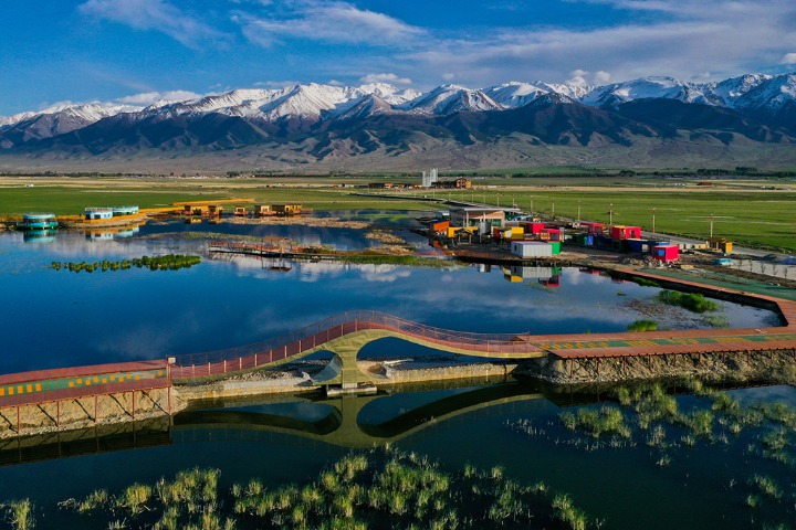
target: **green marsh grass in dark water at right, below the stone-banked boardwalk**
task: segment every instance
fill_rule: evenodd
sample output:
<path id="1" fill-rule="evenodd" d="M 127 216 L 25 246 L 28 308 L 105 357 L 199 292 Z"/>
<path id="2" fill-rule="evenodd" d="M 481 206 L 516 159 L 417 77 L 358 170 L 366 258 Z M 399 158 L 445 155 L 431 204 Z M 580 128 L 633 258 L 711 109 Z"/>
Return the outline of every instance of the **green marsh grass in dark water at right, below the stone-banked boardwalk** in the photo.
<path id="1" fill-rule="evenodd" d="M 688 410 L 680 410 L 678 400 L 661 383 L 622 385 L 614 390 L 619 406 L 579 407 L 559 413 L 559 425 L 572 433 L 562 439 L 555 430 L 548 432 L 528 420 L 509 423 L 510 428 L 528 436 L 555 439 L 588 452 L 635 447 L 642 443 L 653 449 L 654 464 L 669 465 L 679 447 L 731 445 L 746 443 L 746 453 L 758 455 L 785 466 L 796 466 L 796 410 L 784 404 L 744 405 L 726 392 L 704 385 L 696 379 L 678 380 L 696 398 Z M 748 430 L 747 435 L 743 435 Z M 606 442 L 589 442 L 606 434 Z M 753 437 L 755 443 L 748 443 Z M 663 453 L 666 451 L 666 453 Z"/>

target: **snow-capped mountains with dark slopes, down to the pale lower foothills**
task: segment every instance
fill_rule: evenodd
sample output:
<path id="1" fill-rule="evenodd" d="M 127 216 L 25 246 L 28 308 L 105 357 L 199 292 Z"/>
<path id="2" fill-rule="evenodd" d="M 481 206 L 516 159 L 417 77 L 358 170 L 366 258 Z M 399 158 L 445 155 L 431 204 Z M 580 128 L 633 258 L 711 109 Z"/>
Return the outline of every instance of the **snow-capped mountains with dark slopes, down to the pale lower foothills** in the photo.
<path id="1" fill-rule="evenodd" d="M 735 144 L 796 145 L 796 74 L 750 74 L 713 83 L 643 77 L 598 87 L 442 85 L 426 93 L 383 83 L 313 83 L 160 100 L 145 108 L 64 104 L 0 118 L 0 152 L 25 156 L 269 145 L 285 149 L 274 160 L 294 159 L 296 152 L 325 159 L 379 150 L 417 153 L 434 141 L 527 142 L 528 148 L 511 148 L 520 153 L 540 145 L 631 148 L 658 142 L 656 152 L 694 142 L 715 152 Z M 667 141 L 675 147 L 660 147 Z"/>

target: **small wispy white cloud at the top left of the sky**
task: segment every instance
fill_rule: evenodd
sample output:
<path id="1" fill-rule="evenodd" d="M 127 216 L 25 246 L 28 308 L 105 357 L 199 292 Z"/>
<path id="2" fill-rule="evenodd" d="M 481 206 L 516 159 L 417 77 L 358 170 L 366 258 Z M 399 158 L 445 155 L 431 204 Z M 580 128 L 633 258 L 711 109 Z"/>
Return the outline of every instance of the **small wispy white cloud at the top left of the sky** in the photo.
<path id="1" fill-rule="evenodd" d="M 222 34 L 165 0 L 88 0 L 80 11 L 136 30 L 155 30 L 189 47 L 216 40 Z"/>

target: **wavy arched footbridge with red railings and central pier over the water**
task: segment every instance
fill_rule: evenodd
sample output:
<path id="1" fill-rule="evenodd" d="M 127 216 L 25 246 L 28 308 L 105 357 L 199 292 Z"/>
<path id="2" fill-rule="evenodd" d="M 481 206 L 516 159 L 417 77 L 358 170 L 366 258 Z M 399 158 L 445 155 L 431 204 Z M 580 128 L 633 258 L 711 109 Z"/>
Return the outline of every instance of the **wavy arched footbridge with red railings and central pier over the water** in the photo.
<path id="1" fill-rule="evenodd" d="M 190 380 L 252 370 L 297 360 L 317 351 L 334 358 L 318 373 L 316 384 L 353 386 L 371 383 L 356 363 L 359 350 L 374 340 L 394 337 L 436 350 L 490 359 L 532 359 L 547 351 L 516 333 L 472 333 L 434 328 L 380 311 L 346 311 L 271 340 L 210 353 L 174 358 L 171 380 Z"/>

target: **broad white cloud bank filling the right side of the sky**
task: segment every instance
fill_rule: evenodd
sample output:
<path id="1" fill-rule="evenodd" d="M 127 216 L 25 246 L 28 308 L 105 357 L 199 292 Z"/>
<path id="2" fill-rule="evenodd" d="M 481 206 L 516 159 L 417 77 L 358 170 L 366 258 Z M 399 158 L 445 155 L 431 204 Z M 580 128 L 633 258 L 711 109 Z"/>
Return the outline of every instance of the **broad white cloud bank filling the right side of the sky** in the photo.
<path id="1" fill-rule="evenodd" d="M 433 82 L 439 72 L 463 73 L 462 83 L 481 86 L 517 77 L 600 84 L 608 72 L 610 80 L 689 80 L 700 72 L 723 78 L 754 72 L 796 50 L 793 0 L 769 0 L 765 9 L 753 0 L 591 1 L 629 10 L 630 17 L 622 24 L 588 29 L 504 28 L 489 39 L 429 39 L 422 51 L 398 60 L 417 65 L 421 72 L 412 77 L 421 84 Z M 785 57 L 792 59 L 789 53 Z M 577 70 L 591 74 L 577 75 Z"/>

